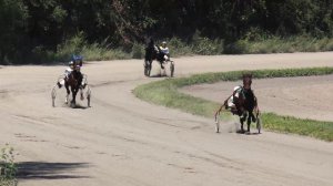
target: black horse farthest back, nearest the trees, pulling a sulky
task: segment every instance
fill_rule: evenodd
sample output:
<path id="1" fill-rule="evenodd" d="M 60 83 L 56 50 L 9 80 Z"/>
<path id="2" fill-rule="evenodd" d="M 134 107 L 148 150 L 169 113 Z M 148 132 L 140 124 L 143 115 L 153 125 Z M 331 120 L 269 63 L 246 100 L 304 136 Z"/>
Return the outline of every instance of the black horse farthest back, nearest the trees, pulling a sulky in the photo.
<path id="1" fill-rule="evenodd" d="M 163 62 L 165 61 L 164 59 L 164 53 L 161 52 L 161 49 L 154 44 L 153 39 L 150 39 L 147 48 L 145 48 L 145 55 L 144 55 L 144 75 L 150 76 L 151 72 L 151 63 L 153 60 L 157 60 L 161 69 L 164 70 Z"/>

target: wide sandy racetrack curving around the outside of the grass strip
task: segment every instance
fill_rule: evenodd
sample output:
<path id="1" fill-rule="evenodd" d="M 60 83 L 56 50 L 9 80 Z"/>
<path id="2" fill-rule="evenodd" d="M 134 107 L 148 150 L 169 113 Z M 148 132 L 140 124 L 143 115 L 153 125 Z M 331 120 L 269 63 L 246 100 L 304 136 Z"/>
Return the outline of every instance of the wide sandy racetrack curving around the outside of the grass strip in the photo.
<path id="1" fill-rule="evenodd" d="M 333 53 L 174 59 L 175 75 L 244 69 L 333 66 Z M 142 61 L 91 62 L 92 107 L 70 108 L 51 87 L 64 66 L 0 66 L 0 146 L 19 162 L 19 185 L 333 185 L 333 144 L 263 132 L 214 133 L 213 120 L 134 97 Z M 154 66 L 157 71 L 157 66 Z M 285 82 L 287 83 L 287 82 Z M 213 115 L 213 113 L 212 113 Z"/>

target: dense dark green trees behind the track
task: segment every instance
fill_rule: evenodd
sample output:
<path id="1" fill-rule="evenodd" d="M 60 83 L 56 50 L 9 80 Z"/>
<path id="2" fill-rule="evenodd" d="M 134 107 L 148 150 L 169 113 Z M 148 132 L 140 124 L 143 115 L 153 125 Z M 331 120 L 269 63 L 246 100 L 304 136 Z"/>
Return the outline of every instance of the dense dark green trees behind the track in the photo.
<path id="1" fill-rule="evenodd" d="M 46 58 L 77 35 L 131 52 L 148 37 L 241 39 L 333 35 L 333 0 L 0 0 L 0 63 Z"/>

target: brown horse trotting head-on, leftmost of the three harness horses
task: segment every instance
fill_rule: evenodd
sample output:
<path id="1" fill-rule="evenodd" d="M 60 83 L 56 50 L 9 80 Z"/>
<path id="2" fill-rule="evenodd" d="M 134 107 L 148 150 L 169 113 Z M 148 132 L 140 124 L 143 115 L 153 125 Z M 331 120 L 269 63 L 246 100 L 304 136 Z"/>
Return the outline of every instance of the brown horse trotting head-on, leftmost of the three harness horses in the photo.
<path id="1" fill-rule="evenodd" d="M 75 97 L 77 94 L 81 87 L 81 83 L 82 83 L 82 74 L 79 70 L 73 70 L 65 79 L 64 79 L 64 87 L 67 91 L 67 95 L 65 95 L 65 104 L 68 104 L 68 97 L 70 95 L 70 93 L 72 93 L 72 101 L 71 101 L 71 107 L 74 107 L 77 102 L 75 102 Z M 71 87 L 71 89 L 69 89 Z M 83 93 L 81 92 L 81 100 L 83 100 Z"/>

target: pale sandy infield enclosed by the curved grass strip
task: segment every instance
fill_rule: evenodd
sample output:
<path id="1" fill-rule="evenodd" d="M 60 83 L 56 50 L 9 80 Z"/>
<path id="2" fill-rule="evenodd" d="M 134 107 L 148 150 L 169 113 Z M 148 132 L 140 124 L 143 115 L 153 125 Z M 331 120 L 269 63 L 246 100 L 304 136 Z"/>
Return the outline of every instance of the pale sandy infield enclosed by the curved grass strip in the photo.
<path id="1" fill-rule="evenodd" d="M 238 82 L 186 86 L 181 92 L 223 103 Z M 333 121 L 333 75 L 253 80 L 260 110 L 301 118 Z"/>

